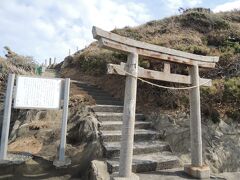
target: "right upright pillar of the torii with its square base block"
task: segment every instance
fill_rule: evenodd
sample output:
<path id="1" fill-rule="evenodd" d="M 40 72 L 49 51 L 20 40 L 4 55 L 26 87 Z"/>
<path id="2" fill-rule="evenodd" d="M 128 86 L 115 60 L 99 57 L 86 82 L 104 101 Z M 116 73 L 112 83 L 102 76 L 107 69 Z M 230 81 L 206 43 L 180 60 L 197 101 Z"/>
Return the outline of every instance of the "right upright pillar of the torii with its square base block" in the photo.
<path id="1" fill-rule="evenodd" d="M 210 169 L 203 166 L 202 160 L 202 127 L 201 106 L 199 87 L 199 68 L 197 65 L 190 67 L 192 86 L 189 90 L 190 97 L 190 137 L 191 137 L 191 165 L 184 167 L 185 172 L 193 177 L 205 179 L 210 178 Z"/>

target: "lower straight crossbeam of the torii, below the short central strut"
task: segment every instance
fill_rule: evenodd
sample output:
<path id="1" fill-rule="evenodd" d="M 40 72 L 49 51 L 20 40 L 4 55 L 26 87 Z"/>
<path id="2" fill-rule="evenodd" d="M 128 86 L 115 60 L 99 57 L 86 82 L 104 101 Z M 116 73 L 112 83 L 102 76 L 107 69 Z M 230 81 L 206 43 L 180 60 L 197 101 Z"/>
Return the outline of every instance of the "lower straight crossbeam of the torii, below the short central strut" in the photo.
<path id="1" fill-rule="evenodd" d="M 125 76 L 124 73 L 125 63 L 121 63 L 121 65 L 117 64 L 108 64 L 108 74 L 118 74 Z M 161 80 L 173 83 L 180 83 L 180 84 L 191 84 L 191 77 L 187 75 L 181 74 L 172 74 L 168 72 L 161 72 L 161 71 L 153 71 L 149 69 L 144 69 L 142 67 L 138 67 L 138 77 L 146 78 L 146 79 L 154 79 L 154 80 Z M 212 81 L 210 79 L 200 78 L 200 84 L 209 81 L 208 83 L 204 84 L 203 86 L 211 86 Z"/>

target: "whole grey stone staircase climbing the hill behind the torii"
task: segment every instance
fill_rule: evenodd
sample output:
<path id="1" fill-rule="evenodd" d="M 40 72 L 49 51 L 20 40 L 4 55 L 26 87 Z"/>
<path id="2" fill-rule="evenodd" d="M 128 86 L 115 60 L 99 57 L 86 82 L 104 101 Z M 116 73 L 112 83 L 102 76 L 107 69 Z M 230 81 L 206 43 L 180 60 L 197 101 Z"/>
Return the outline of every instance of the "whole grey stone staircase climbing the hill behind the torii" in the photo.
<path id="1" fill-rule="evenodd" d="M 78 86 L 96 100 L 91 109 L 101 122 L 101 138 L 104 156 L 110 173 L 119 169 L 121 126 L 123 102 L 113 98 L 96 86 L 80 83 Z M 179 160 L 171 151 L 167 142 L 160 139 L 160 134 L 145 121 L 143 114 L 136 114 L 134 150 L 134 172 L 149 172 L 171 169 L 179 166 Z"/>

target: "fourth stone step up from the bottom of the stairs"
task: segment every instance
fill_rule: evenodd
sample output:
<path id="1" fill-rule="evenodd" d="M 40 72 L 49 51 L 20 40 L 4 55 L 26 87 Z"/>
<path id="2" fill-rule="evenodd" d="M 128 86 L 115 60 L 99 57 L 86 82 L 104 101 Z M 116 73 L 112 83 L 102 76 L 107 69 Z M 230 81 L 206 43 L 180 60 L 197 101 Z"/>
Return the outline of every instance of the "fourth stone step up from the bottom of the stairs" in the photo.
<path id="1" fill-rule="evenodd" d="M 151 127 L 150 122 L 146 122 L 146 121 L 135 122 L 136 129 L 147 129 L 150 127 Z M 122 121 L 103 121 L 100 127 L 100 130 L 121 130 L 121 129 L 122 129 Z"/>

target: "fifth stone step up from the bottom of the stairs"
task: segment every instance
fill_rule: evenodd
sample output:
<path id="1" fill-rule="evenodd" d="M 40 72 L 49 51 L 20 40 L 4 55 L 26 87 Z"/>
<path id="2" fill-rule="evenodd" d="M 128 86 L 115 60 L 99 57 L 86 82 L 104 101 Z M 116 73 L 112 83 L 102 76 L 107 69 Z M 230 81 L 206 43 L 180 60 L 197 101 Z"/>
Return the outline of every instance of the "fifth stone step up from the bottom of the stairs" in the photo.
<path id="1" fill-rule="evenodd" d="M 123 113 L 96 112 L 95 115 L 99 121 L 122 121 Z M 144 120 L 143 114 L 136 114 L 136 120 Z"/>

